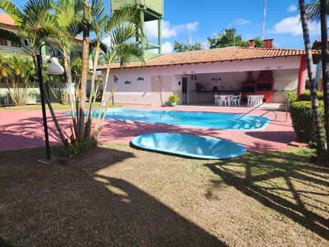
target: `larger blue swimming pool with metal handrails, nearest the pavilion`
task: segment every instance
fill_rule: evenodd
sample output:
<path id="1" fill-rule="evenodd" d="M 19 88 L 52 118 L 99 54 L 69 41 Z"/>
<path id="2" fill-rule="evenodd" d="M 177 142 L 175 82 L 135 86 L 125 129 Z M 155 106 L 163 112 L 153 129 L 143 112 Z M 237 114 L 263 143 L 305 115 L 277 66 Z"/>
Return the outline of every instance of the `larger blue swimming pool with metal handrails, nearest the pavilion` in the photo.
<path id="1" fill-rule="evenodd" d="M 97 117 L 98 110 L 94 110 Z M 175 110 L 136 110 L 129 108 L 111 108 L 106 113 L 106 119 L 143 121 L 149 123 L 175 124 L 179 126 L 197 126 L 226 130 L 260 130 L 269 124 L 268 117 L 236 113 L 205 113 Z"/>

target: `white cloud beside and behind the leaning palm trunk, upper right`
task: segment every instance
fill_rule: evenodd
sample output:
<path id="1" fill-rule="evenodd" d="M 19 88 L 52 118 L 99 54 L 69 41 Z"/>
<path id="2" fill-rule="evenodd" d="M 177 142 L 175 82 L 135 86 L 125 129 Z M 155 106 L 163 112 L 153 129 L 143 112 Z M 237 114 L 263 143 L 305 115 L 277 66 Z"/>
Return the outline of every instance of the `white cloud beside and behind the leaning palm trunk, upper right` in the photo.
<path id="1" fill-rule="evenodd" d="M 308 23 L 308 31 L 310 35 L 320 34 L 320 25 L 319 23 Z M 279 23 L 269 30 L 271 34 L 291 34 L 293 36 L 297 36 L 303 34 L 302 32 L 302 23 L 300 23 L 300 16 L 293 16 L 283 19 Z"/>

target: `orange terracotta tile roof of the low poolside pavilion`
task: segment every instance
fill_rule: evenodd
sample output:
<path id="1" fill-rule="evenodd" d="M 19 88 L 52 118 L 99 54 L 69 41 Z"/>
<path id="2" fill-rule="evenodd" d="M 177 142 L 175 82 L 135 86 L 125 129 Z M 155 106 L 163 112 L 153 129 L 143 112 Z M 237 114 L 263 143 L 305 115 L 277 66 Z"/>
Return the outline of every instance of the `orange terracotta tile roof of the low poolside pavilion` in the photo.
<path id="1" fill-rule="evenodd" d="M 227 47 L 202 51 L 186 51 L 174 54 L 162 54 L 146 60 L 146 67 L 170 66 L 179 64 L 197 64 L 206 62 L 226 62 L 234 60 L 253 60 L 263 58 L 280 58 L 288 56 L 302 56 L 303 49 L 264 49 L 249 47 Z M 320 55 L 321 51 L 313 51 L 313 55 Z M 111 64 L 112 69 L 120 67 L 119 63 Z M 140 61 L 128 62 L 127 68 L 141 67 Z M 98 69 L 106 69 L 100 66 Z"/>

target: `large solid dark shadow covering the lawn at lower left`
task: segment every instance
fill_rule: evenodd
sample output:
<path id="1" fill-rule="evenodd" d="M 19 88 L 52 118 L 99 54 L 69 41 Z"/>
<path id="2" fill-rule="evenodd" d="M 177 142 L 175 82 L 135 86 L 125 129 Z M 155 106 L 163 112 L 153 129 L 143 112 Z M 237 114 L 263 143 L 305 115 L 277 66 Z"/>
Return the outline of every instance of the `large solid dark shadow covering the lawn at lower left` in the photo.
<path id="1" fill-rule="evenodd" d="M 135 185 L 97 174 L 134 158 L 129 150 L 97 148 L 71 166 L 36 163 L 42 148 L 0 152 L 1 240 L 14 238 L 17 246 L 226 246 Z"/>

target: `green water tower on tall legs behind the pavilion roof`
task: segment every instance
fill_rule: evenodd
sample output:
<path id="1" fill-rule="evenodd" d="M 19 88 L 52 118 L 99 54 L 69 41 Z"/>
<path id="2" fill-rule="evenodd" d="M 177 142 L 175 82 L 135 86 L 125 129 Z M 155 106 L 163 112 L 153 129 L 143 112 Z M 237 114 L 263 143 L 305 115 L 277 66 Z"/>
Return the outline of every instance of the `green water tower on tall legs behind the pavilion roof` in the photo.
<path id="1" fill-rule="evenodd" d="M 161 54 L 161 19 L 163 18 L 163 0 L 110 0 L 111 12 L 119 10 L 126 6 L 133 6 L 140 13 L 141 27 L 144 28 L 146 21 L 158 20 L 158 45 L 145 43 L 141 40 L 141 46 L 148 49 L 158 49 L 158 54 Z"/>

